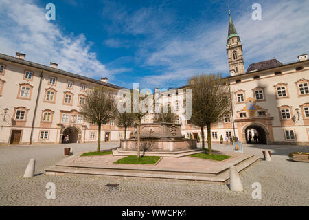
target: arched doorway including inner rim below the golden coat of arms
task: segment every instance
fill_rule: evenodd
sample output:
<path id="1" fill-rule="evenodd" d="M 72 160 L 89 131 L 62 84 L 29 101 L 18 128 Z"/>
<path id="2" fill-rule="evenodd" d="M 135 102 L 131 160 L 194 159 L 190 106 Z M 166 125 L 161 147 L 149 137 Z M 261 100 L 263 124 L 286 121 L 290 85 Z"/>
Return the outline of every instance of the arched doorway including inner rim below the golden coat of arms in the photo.
<path id="1" fill-rule="evenodd" d="M 267 144 L 270 141 L 266 126 L 255 122 L 244 126 L 242 138 L 246 144 Z"/>

